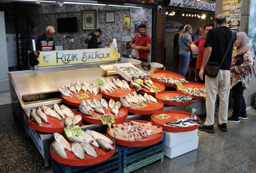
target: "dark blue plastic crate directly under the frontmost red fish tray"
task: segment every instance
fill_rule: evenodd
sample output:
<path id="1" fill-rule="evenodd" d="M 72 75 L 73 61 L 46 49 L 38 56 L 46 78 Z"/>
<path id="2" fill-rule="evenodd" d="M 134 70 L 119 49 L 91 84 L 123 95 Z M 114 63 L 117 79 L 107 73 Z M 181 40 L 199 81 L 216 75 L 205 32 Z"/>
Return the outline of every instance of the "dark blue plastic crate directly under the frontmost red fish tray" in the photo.
<path id="1" fill-rule="evenodd" d="M 64 165 L 64 164 L 61 164 L 61 163 L 58 163 L 56 162 L 55 160 L 52 159 L 52 166 L 53 166 L 53 170 L 54 170 L 54 167 L 56 166 L 56 169 L 55 170 L 58 170 L 56 172 L 60 172 L 60 173 L 73 173 L 73 172 L 77 172 L 77 171 L 80 171 L 80 170 L 88 170 L 90 169 L 91 167 L 102 167 L 104 166 L 105 164 L 108 164 L 107 162 L 117 162 L 117 161 L 120 161 L 121 162 L 122 160 L 122 149 L 118 146 L 116 146 L 116 151 L 115 153 L 112 155 L 112 157 L 110 157 L 108 160 L 104 161 L 104 162 L 101 162 L 101 163 L 98 163 L 98 164 L 95 164 L 95 165 L 88 165 L 88 166 L 69 166 L 69 165 Z"/>

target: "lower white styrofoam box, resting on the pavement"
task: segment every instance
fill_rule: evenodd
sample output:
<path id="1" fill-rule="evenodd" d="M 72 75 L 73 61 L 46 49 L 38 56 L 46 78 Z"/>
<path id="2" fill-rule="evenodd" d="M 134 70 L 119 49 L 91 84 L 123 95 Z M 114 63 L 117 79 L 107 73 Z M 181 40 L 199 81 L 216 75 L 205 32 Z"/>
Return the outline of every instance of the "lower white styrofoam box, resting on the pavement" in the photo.
<path id="1" fill-rule="evenodd" d="M 195 150 L 198 148 L 198 139 L 199 137 L 197 136 L 196 138 L 187 141 L 183 144 L 176 145 L 174 147 L 167 147 L 166 145 L 164 146 L 164 155 L 166 155 L 169 158 L 174 158 L 177 156 L 180 156 L 182 154 L 188 153 L 190 151 Z"/>

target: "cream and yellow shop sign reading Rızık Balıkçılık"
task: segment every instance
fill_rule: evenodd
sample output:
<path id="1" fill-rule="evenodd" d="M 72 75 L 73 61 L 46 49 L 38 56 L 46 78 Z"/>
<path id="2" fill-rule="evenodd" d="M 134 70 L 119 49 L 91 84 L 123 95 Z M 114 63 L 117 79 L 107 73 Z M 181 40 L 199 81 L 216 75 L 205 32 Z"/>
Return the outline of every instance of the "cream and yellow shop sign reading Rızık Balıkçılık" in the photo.
<path id="1" fill-rule="evenodd" d="M 117 48 L 41 51 L 38 67 L 96 63 L 116 60 Z"/>

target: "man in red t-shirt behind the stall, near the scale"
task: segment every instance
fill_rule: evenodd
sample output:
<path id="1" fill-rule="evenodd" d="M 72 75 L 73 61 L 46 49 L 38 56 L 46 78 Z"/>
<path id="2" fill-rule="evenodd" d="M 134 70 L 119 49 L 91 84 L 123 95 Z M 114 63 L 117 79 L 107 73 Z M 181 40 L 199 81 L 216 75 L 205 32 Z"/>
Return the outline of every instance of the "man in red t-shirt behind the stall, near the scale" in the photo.
<path id="1" fill-rule="evenodd" d="M 135 49 L 139 53 L 139 60 L 147 63 L 148 61 L 148 52 L 151 49 L 151 37 L 146 33 L 146 25 L 139 25 L 139 34 L 134 36 L 130 41 L 129 45 L 132 49 Z M 135 45 L 134 45 L 135 43 Z"/>

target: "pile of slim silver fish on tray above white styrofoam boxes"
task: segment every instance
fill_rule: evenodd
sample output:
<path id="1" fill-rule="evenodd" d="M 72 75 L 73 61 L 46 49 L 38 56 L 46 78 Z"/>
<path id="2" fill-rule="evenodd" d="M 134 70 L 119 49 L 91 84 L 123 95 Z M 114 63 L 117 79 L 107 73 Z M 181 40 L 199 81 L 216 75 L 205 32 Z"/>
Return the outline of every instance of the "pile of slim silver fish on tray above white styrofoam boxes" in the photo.
<path id="1" fill-rule="evenodd" d="M 198 122 L 198 119 L 194 115 L 190 117 L 177 119 L 176 122 L 165 122 L 165 126 L 170 127 L 189 127 L 194 125 L 202 126 L 201 122 Z"/>

